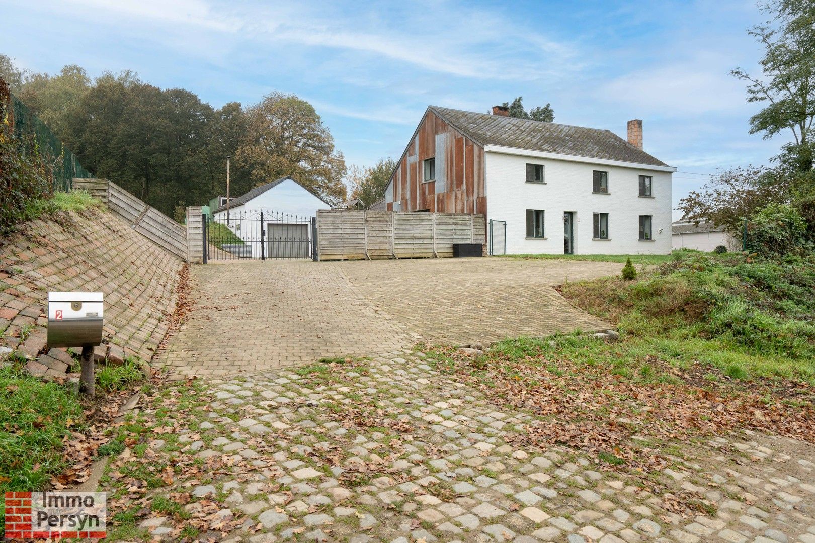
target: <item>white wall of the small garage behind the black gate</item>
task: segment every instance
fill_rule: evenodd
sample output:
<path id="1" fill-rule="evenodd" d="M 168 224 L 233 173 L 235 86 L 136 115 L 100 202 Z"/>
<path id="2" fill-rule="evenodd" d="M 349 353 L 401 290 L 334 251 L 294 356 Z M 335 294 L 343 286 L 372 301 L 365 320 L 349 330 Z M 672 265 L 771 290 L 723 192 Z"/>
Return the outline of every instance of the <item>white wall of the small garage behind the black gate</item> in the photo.
<path id="1" fill-rule="evenodd" d="M 280 250 L 275 251 L 274 247 L 270 247 L 268 244 L 269 236 L 274 231 L 272 225 L 311 225 L 311 217 L 316 217 L 318 209 L 330 208 L 330 205 L 311 194 L 297 182 L 286 179 L 279 185 L 273 186 L 271 189 L 250 199 L 245 204 L 230 208 L 229 228 L 238 238 L 249 244 L 252 248 L 252 257 L 259 258 L 261 256 L 261 246 L 258 243 L 261 235 L 259 219 L 260 213 L 263 212 L 263 230 L 266 232 L 264 239 L 267 240 L 267 244 L 263 248 L 265 255 L 270 256 L 270 250 L 272 250 L 271 252 L 281 253 Z M 219 224 L 223 224 L 227 220 L 227 212 L 217 212 L 214 217 Z M 301 232 L 305 233 L 307 230 L 307 235 L 311 241 L 311 228 L 298 229 L 295 226 L 288 230 L 293 235 L 298 236 Z M 291 247 L 286 247 L 288 247 L 287 250 L 282 251 L 282 253 L 290 254 L 289 249 Z"/>

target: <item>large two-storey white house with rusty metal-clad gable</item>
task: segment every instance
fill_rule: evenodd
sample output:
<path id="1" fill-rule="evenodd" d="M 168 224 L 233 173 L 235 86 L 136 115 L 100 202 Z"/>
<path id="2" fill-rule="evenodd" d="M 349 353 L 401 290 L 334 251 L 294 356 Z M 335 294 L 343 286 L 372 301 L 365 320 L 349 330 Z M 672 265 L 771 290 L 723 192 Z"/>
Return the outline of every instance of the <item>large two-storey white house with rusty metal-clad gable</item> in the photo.
<path id="1" fill-rule="evenodd" d="M 641 120 L 628 122 L 626 141 L 514 119 L 504 107 L 488 115 L 430 106 L 385 201 L 402 211 L 486 213 L 493 254 L 667 254 L 675 171 L 642 150 Z"/>

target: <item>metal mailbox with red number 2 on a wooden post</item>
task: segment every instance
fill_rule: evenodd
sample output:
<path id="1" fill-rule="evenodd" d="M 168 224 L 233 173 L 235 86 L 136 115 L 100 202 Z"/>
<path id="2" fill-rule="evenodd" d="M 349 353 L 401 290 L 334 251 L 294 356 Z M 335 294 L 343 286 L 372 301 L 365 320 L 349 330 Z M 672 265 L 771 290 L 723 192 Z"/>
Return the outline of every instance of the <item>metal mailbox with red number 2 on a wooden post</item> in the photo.
<path id="1" fill-rule="evenodd" d="M 48 347 L 95 347 L 102 343 L 101 292 L 48 293 Z"/>

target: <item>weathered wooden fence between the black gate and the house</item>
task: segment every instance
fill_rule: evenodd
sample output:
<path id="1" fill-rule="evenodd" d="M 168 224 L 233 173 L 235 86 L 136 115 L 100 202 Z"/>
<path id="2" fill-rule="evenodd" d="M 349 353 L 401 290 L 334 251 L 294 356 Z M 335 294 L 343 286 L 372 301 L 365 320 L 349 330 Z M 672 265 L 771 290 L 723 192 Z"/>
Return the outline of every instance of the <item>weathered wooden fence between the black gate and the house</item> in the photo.
<path id="1" fill-rule="evenodd" d="M 319 260 L 451 257 L 453 243 L 483 247 L 486 224 L 483 215 L 319 210 Z"/>

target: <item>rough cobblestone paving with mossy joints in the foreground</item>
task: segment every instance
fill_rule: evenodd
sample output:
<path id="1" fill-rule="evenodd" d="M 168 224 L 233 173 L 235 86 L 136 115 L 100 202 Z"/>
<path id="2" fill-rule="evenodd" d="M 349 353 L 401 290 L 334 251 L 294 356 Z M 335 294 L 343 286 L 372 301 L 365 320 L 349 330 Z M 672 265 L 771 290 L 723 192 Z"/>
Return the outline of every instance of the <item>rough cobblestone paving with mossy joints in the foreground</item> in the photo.
<path id="1" fill-rule="evenodd" d="M 808 444 L 752 432 L 677 443 L 671 468 L 649 475 L 657 495 L 586 453 L 509 445 L 532 415 L 422 356 L 213 379 L 188 414 L 145 406 L 176 427 L 150 449 L 195 455 L 207 474 L 151 495 L 191 493 L 185 510 L 215 513 L 202 541 L 815 542 Z M 715 506 L 679 515 L 672 495 L 688 493 Z M 139 522 L 156 539 L 182 529 L 161 513 Z"/>

